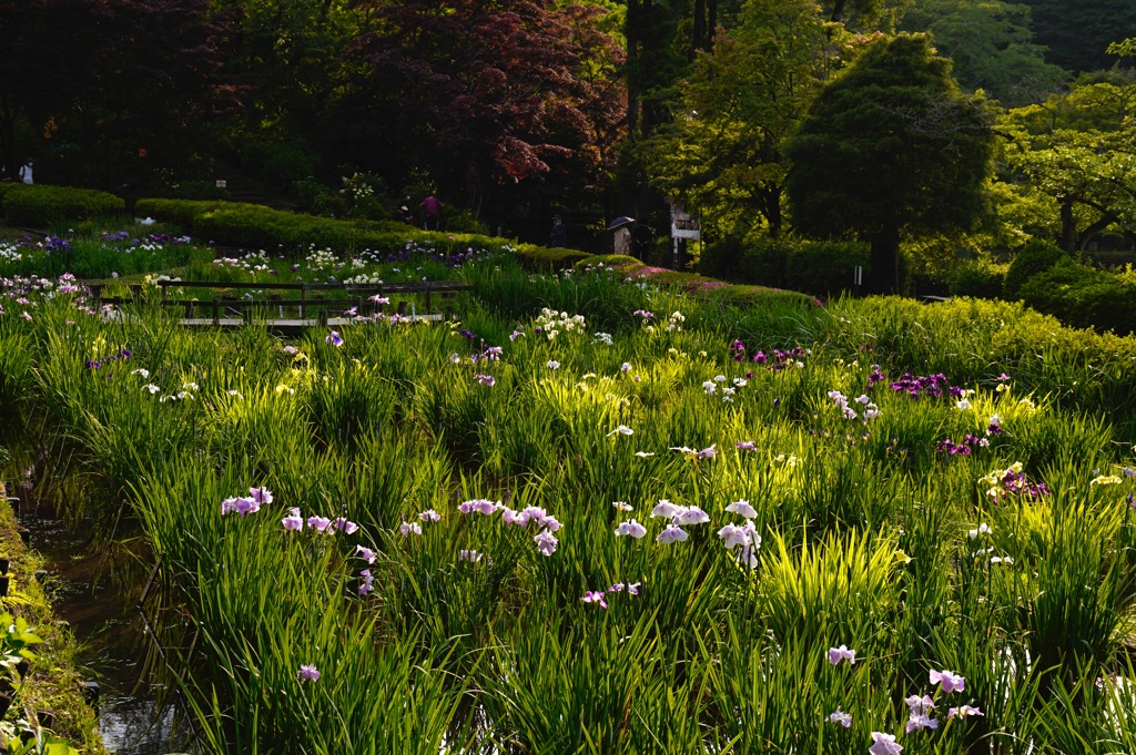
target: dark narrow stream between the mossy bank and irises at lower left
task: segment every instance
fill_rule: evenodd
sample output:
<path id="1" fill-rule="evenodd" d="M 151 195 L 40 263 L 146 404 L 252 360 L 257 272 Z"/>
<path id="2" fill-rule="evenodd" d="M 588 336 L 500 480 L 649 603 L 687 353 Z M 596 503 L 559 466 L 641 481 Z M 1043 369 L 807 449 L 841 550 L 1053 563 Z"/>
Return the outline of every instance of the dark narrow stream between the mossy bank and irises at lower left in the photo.
<path id="1" fill-rule="evenodd" d="M 78 662 L 98 681 L 99 730 L 118 755 L 193 753 L 192 732 L 176 695 L 148 678 L 151 640 L 136 607 L 141 585 L 119 584 L 93 543 L 92 528 L 69 530 L 55 512 L 24 501 L 20 522 L 45 560 L 56 615 L 80 643 Z"/>

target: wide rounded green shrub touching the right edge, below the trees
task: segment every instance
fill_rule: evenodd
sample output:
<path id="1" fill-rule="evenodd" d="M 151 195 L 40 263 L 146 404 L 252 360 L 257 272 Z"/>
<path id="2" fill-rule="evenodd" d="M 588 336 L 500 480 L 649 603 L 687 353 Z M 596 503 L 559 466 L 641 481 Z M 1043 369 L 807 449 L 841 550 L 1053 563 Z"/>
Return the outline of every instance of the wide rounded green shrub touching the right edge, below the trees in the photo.
<path id="1" fill-rule="evenodd" d="M 1068 258 L 1031 276 L 1021 299 L 1066 325 L 1120 335 L 1136 330 L 1136 287 Z"/>

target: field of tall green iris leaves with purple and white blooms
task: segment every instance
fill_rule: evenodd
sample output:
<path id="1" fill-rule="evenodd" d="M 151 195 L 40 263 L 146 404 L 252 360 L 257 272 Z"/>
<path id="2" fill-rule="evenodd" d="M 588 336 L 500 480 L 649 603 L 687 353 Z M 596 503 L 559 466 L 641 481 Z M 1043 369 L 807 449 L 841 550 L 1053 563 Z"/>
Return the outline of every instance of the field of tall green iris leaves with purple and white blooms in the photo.
<path id="1" fill-rule="evenodd" d="M 0 411 L 162 554 L 208 750 L 1136 749 L 1136 342 L 462 270 L 292 342 L 8 280 Z"/>

